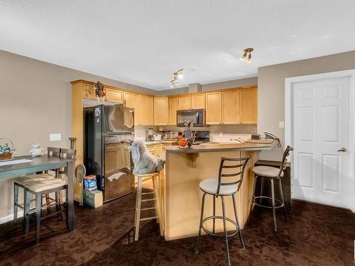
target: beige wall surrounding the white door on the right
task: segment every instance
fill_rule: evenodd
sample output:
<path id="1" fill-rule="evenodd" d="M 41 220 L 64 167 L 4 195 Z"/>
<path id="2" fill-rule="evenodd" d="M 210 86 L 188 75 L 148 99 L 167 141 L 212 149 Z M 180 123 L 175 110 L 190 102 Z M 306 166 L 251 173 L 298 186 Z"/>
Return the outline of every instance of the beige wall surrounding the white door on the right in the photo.
<path id="1" fill-rule="evenodd" d="M 355 69 L 355 51 L 258 68 L 258 132 L 271 131 L 283 139 L 285 78 Z M 282 150 L 263 151 L 261 159 L 280 160 Z"/>

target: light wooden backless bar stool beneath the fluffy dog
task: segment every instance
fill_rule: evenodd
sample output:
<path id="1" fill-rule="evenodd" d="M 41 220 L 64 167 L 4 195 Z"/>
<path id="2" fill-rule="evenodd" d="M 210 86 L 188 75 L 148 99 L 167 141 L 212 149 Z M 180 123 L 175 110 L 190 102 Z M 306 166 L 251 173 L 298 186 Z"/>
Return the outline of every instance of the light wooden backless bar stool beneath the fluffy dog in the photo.
<path id="1" fill-rule="evenodd" d="M 136 227 L 136 234 L 134 240 L 138 240 L 139 238 L 139 223 L 141 221 L 156 219 L 157 223 L 159 223 L 160 235 L 163 235 L 163 223 L 160 211 L 160 198 L 159 198 L 159 189 L 160 189 L 160 172 L 153 172 L 151 174 L 135 174 L 138 179 L 137 183 L 137 196 L 136 196 L 136 214 L 134 216 L 134 226 Z M 143 178 L 151 179 L 153 182 L 153 192 L 142 192 L 143 187 Z M 142 199 L 142 195 L 151 194 L 153 198 L 151 199 Z M 153 207 L 141 208 L 142 202 L 146 201 L 154 201 Z M 155 209 L 155 216 L 141 218 L 141 211 L 147 211 Z"/>

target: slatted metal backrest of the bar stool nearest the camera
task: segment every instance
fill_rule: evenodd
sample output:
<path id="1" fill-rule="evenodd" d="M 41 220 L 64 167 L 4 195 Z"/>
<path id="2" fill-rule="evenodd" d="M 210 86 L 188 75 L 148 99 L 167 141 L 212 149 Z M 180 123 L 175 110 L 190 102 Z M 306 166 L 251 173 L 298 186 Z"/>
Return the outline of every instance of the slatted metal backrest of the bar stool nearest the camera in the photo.
<path id="1" fill-rule="evenodd" d="M 234 185 L 236 184 L 237 187 L 237 191 L 239 191 L 239 188 L 241 187 L 241 182 L 243 181 L 243 177 L 244 177 L 244 170 L 246 167 L 246 164 L 248 162 L 250 158 L 250 155 L 248 155 L 247 157 L 243 157 L 243 158 L 226 158 L 226 157 L 222 157 L 221 158 L 221 163 L 219 165 L 219 174 L 218 174 L 218 186 L 217 186 L 217 196 L 219 195 L 219 190 L 221 188 L 221 186 L 228 186 L 228 185 Z M 239 162 L 239 164 L 237 165 L 226 165 L 226 162 Z M 240 170 L 239 172 L 236 173 L 223 173 L 224 169 L 238 169 Z M 222 180 L 222 177 L 239 177 L 238 180 L 234 180 L 234 181 L 226 181 L 226 180 Z"/>

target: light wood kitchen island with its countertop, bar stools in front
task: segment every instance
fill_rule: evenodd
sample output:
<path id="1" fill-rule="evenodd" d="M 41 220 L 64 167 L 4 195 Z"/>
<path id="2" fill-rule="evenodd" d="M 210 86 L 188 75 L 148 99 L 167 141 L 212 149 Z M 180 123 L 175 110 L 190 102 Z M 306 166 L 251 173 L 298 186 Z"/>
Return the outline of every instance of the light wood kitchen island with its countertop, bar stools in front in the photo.
<path id="1" fill-rule="evenodd" d="M 253 177 L 251 169 L 258 160 L 261 150 L 271 150 L 273 143 L 238 143 L 219 144 L 206 143 L 181 149 L 177 146 L 165 147 L 165 178 L 163 180 L 162 212 L 165 240 L 187 238 L 198 234 L 202 204 L 202 192 L 199 184 L 207 178 L 217 178 L 221 157 L 251 158 L 246 165 L 244 180 L 236 195 L 236 209 L 239 224 L 244 227 L 249 216 Z M 213 213 L 213 197 L 206 196 L 204 217 Z M 225 197 L 226 216 L 234 220 L 233 201 L 231 196 Z M 220 198 L 216 200 L 216 214 L 222 215 Z M 206 223 L 207 228 L 212 225 Z M 228 230 L 235 230 L 227 223 Z M 212 226 L 211 226 L 212 227 Z M 216 221 L 216 231 L 223 231 L 222 221 Z"/>

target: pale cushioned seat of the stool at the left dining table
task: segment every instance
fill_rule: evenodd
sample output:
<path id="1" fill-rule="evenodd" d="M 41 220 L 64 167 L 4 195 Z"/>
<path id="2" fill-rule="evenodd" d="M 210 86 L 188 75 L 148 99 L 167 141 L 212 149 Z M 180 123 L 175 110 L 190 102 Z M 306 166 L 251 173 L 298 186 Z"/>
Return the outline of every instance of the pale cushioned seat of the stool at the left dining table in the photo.
<path id="1" fill-rule="evenodd" d="M 37 193 L 65 186 L 67 182 L 62 178 L 32 177 L 26 179 L 26 181 L 22 181 L 21 184 L 23 187 Z"/>

